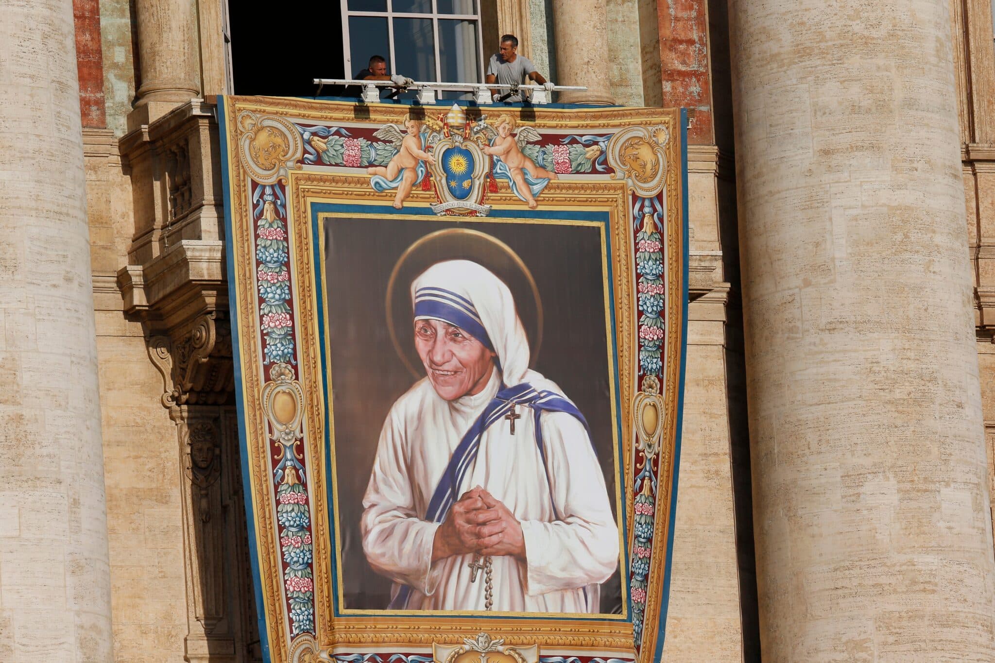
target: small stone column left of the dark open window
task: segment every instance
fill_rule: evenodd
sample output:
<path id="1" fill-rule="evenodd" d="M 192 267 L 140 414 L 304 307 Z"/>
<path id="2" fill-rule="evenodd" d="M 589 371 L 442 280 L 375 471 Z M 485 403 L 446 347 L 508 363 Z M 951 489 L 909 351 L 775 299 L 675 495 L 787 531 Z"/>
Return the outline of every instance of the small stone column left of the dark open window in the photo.
<path id="1" fill-rule="evenodd" d="M 134 0 L 141 80 L 138 104 L 179 104 L 200 94 L 193 0 Z"/>

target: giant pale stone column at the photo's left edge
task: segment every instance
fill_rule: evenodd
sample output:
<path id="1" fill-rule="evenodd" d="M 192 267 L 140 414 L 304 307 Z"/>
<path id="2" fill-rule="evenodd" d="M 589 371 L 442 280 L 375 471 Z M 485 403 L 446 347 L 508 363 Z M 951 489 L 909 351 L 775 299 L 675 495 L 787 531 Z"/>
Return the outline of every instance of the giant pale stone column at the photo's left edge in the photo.
<path id="1" fill-rule="evenodd" d="M 73 3 L 0 3 L 0 660 L 112 660 Z"/>

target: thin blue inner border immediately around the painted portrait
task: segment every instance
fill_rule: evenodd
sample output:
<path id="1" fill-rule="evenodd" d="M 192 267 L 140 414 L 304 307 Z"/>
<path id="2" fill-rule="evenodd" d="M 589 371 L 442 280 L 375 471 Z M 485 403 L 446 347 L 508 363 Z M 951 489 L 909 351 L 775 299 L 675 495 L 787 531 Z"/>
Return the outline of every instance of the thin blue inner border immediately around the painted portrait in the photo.
<path id="1" fill-rule="evenodd" d="M 330 405 L 328 403 L 328 397 L 331 394 L 331 390 L 329 389 L 329 387 L 330 387 L 330 385 L 328 384 L 328 374 L 329 374 L 329 371 L 327 370 L 329 358 L 326 356 L 326 353 L 325 353 L 325 350 L 326 350 L 326 347 L 327 347 L 327 344 L 325 342 L 326 330 L 325 330 L 325 327 L 324 327 L 324 318 L 325 318 L 325 316 L 324 316 L 324 296 L 325 295 L 324 295 L 324 290 L 323 290 L 323 286 L 322 286 L 322 283 L 321 283 L 321 281 L 322 281 L 321 275 L 322 275 L 323 265 L 321 265 L 320 246 L 323 246 L 323 239 L 324 238 L 321 236 L 322 232 L 321 232 L 321 229 L 318 226 L 318 215 L 320 215 L 320 214 L 327 214 L 327 213 L 336 213 L 336 214 L 350 214 L 350 213 L 351 214 L 378 214 L 378 215 L 382 215 L 385 219 L 388 219 L 388 218 L 390 218 L 393 215 L 399 215 L 399 216 L 419 216 L 419 217 L 431 217 L 432 219 L 438 220 L 438 221 L 451 221 L 451 222 L 456 222 L 456 223 L 459 223 L 459 221 L 458 221 L 459 218 L 454 218 L 454 217 L 439 217 L 439 216 L 437 216 L 435 213 L 433 213 L 428 208 L 405 208 L 404 210 L 394 210 L 393 208 L 387 207 L 387 206 L 384 206 L 384 205 L 363 205 L 363 204 L 355 204 L 355 205 L 353 205 L 353 204 L 348 204 L 348 203 L 344 203 L 344 204 L 343 203 L 311 203 L 310 206 L 309 206 L 308 213 L 310 215 L 311 235 L 312 235 L 313 240 L 314 240 L 311 243 L 313 245 L 313 247 L 314 247 L 314 249 L 312 249 L 313 250 L 313 260 L 314 260 L 314 264 L 316 265 L 316 268 L 314 270 L 314 283 L 313 283 L 313 287 L 314 287 L 314 292 L 315 292 L 315 295 L 316 295 L 315 300 L 317 302 L 318 342 L 320 343 L 320 346 L 321 346 L 319 354 L 320 354 L 320 357 L 321 357 L 321 366 L 322 366 L 322 369 L 323 369 L 321 371 L 321 381 L 322 381 L 322 385 L 323 385 L 323 388 L 324 388 L 323 398 L 324 398 L 324 409 L 325 409 L 325 414 L 324 414 L 325 415 L 325 426 L 324 426 L 325 433 L 324 433 L 323 444 L 324 444 L 325 448 L 327 449 L 327 448 L 331 447 L 331 431 L 333 429 L 333 425 L 332 425 L 332 422 L 330 420 L 330 417 L 331 417 L 331 407 L 330 407 Z M 551 211 L 551 210 L 549 210 L 549 211 L 543 211 L 543 210 L 535 211 L 535 210 L 530 210 L 527 213 L 527 215 L 528 216 L 523 216 L 522 213 L 520 211 L 518 211 L 518 210 L 493 210 L 492 213 L 491 213 L 491 215 L 489 216 L 489 218 L 497 218 L 497 219 L 524 219 L 525 221 L 532 220 L 532 219 L 550 219 L 550 220 L 569 219 L 569 220 L 576 220 L 576 221 L 593 221 L 593 222 L 597 222 L 597 223 L 601 224 L 601 230 L 604 233 L 605 250 L 607 251 L 606 255 L 611 256 L 611 254 L 612 254 L 612 237 L 611 237 L 611 232 L 610 232 L 611 231 L 611 228 L 610 228 L 611 218 L 610 218 L 610 214 L 608 212 Z M 486 222 L 486 220 L 485 220 L 485 222 Z M 327 257 L 327 256 L 325 256 L 325 257 Z M 615 282 L 615 280 L 614 280 L 615 279 L 615 273 L 614 273 L 614 267 L 612 265 L 612 260 L 611 259 L 608 259 L 606 261 L 606 269 L 607 269 L 607 271 L 605 273 L 605 277 L 608 279 L 608 283 L 609 283 L 609 287 L 608 287 L 609 319 L 606 320 L 606 322 L 608 322 L 609 324 L 611 324 L 611 328 L 612 329 L 615 329 L 616 328 L 615 292 L 614 292 L 614 289 L 610 285 L 611 283 Z M 615 376 L 616 376 L 616 379 L 614 381 L 614 383 L 615 383 L 615 413 L 614 414 L 615 414 L 615 419 L 616 419 L 616 421 L 615 421 L 615 430 L 616 430 L 616 435 L 618 436 L 618 439 L 621 442 L 622 441 L 622 416 L 621 416 L 621 414 L 622 414 L 622 395 L 621 395 L 621 385 L 619 384 L 620 380 L 618 378 L 618 376 L 619 376 L 619 352 L 618 352 L 618 339 L 616 338 L 616 335 L 615 334 L 609 335 L 608 342 L 611 343 L 611 349 L 612 349 L 612 364 L 611 364 L 610 368 L 611 368 L 611 370 L 613 370 L 615 372 Z M 623 453 L 623 451 L 624 451 L 624 445 L 620 443 L 619 444 L 619 448 L 616 450 L 616 459 L 620 463 L 620 465 L 619 465 L 620 468 L 623 466 L 623 464 L 626 461 L 625 454 Z M 326 498 L 327 498 L 327 501 L 328 501 L 328 518 L 333 523 L 334 522 L 335 509 L 337 508 L 337 504 L 335 503 L 334 495 L 333 495 L 333 487 L 334 486 L 333 486 L 333 483 L 332 483 L 332 476 L 331 476 L 331 453 L 326 453 L 325 454 L 325 459 L 326 459 L 326 462 L 324 464 L 324 467 L 322 467 L 321 469 L 324 472 L 324 478 L 325 478 L 325 495 L 326 495 Z M 622 472 L 622 474 L 623 474 L 622 479 L 623 479 L 623 484 L 624 484 L 625 483 L 624 471 Z M 625 497 L 625 487 L 621 486 L 621 488 L 622 488 L 622 491 L 623 491 L 623 497 Z M 629 532 L 629 523 L 628 523 L 628 517 L 627 517 L 627 513 L 626 513 L 626 508 L 625 508 L 625 501 L 623 501 L 623 504 L 622 504 L 621 513 L 619 514 L 619 520 L 621 521 L 621 524 L 622 524 L 622 531 L 625 532 L 626 534 L 628 534 L 628 532 Z M 626 540 L 628 540 L 628 537 L 626 537 Z M 332 606 L 333 606 L 333 610 L 334 610 L 334 616 L 336 616 L 336 617 L 355 616 L 355 615 L 352 615 L 350 613 L 342 612 L 343 608 L 338 603 L 338 574 L 337 574 L 337 567 L 338 567 L 338 547 L 336 545 L 334 536 L 332 536 L 332 549 L 333 550 L 332 550 L 332 555 L 331 555 L 331 585 L 332 585 Z M 623 551 L 622 551 L 622 564 L 625 565 L 625 566 L 620 569 L 620 572 L 625 572 L 626 570 L 629 569 L 630 560 L 629 560 L 629 549 L 628 549 L 627 546 L 623 547 Z M 623 583 L 625 583 L 625 585 L 626 585 L 626 587 L 628 589 L 627 594 L 629 594 L 627 597 L 629 597 L 631 599 L 632 588 L 631 588 L 631 585 L 629 583 L 629 580 L 623 576 L 621 578 L 621 581 Z M 631 605 L 631 603 L 630 603 L 630 605 Z M 386 610 L 386 609 L 383 610 L 383 615 L 384 616 L 401 616 L 401 615 L 398 615 L 395 612 L 388 612 L 388 610 Z M 404 615 L 404 616 L 411 616 L 411 615 Z M 426 616 L 430 616 L 430 615 L 426 615 Z M 431 616 L 438 617 L 439 615 L 431 615 Z M 483 615 L 483 614 L 482 615 L 475 615 L 475 616 L 482 617 L 482 618 L 485 618 L 485 619 L 497 618 L 497 617 L 505 618 L 505 619 L 506 618 L 511 618 L 511 619 L 530 619 L 531 618 L 529 616 L 508 617 L 508 615 L 503 615 L 503 614 L 502 615 L 494 615 L 494 617 L 491 617 L 489 615 Z M 569 621 L 569 620 L 582 619 L 584 617 L 557 617 L 557 616 L 547 615 L 545 618 L 548 618 L 548 619 L 562 619 L 564 621 Z M 623 619 L 623 620 L 620 620 L 620 621 L 621 621 L 621 623 L 632 623 L 632 608 L 631 608 L 631 606 L 630 606 L 630 609 L 629 609 L 629 615 L 628 615 L 628 617 L 626 619 Z"/>

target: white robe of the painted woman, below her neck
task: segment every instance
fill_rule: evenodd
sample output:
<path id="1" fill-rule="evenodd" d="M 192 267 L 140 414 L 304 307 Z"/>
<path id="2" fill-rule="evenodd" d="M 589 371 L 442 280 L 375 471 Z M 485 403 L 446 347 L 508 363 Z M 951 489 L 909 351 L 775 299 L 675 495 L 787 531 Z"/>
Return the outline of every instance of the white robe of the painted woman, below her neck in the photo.
<path id="1" fill-rule="evenodd" d="M 537 373 L 525 377 L 536 393 L 563 398 Z M 432 545 L 442 521 L 439 488 L 452 483 L 446 476 L 453 471 L 451 459 L 500 386 L 496 371 L 481 394 L 446 402 L 422 380 L 384 422 L 363 500 L 362 532 L 367 560 L 394 580 L 393 608 L 484 609 L 485 583 L 471 582 L 473 556 L 433 564 Z M 526 563 L 493 559 L 493 609 L 597 612 L 599 583 L 618 565 L 619 534 L 586 426 L 567 412 L 518 412 L 514 435 L 499 412 L 491 417 L 476 452 L 462 456 L 455 498 L 448 499 L 483 486 L 521 523 Z"/>

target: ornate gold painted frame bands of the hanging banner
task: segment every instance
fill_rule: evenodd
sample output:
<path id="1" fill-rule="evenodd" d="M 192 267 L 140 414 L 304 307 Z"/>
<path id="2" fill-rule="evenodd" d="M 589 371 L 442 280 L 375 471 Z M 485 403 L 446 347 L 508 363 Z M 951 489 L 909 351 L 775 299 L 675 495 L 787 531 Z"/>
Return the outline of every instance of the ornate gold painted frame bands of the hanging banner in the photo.
<path id="1" fill-rule="evenodd" d="M 219 97 L 219 100 L 222 97 Z M 687 220 L 685 218 L 684 176 L 686 160 L 681 136 L 682 113 L 673 109 L 650 108 L 542 108 L 505 109 L 517 113 L 519 121 L 540 131 L 569 129 L 583 133 L 625 133 L 650 145 L 647 154 L 658 155 L 657 166 L 665 171 L 657 188 L 665 209 L 662 232 L 665 265 L 664 295 L 666 316 L 662 341 L 662 375 L 659 389 L 652 382 L 637 384 L 640 370 L 640 311 L 636 298 L 637 247 L 633 229 L 652 220 L 634 219 L 633 196 L 653 194 L 647 183 L 649 169 L 640 170 L 626 162 L 626 145 L 609 145 L 609 161 L 614 172 L 551 182 L 541 196 L 542 210 L 603 210 L 609 214 L 612 234 L 611 261 L 614 282 L 615 337 L 618 350 L 618 380 L 623 458 L 621 468 L 626 522 L 624 544 L 632 556 L 632 527 L 635 461 L 639 454 L 657 462 L 653 522 L 652 562 L 646 578 L 645 612 L 641 639 L 634 645 L 631 619 L 555 618 L 554 615 L 484 617 L 477 614 L 340 614 L 335 615 L 330 587 L 330 556 L 333 550 L 333 524 L 328 522 L 328 505 L 322 471 L 311 473 L 306 494 L 313 540 L 313 632 L 292 636 L 288 602 L 285 597 L 281 542 L 277 524 L 278 495 L 274 484 L 274 445 L 284 444 L 300 453 L 308 467 L 325 466 L 324 394 L 319 362 L 318 315 L 314 283 L 322 277 L 314 264 L 309 206 L 312 202 L 374 204 L 389 208 L 392 194 L 377 193 L 369 186 L 362 169 L 306 168 L 299 163 L 299 136 L 286 138 L 294 123 L 326 125 L 380 124 L 400 121 L 408 106 L 392 104 L 361 105 L 349 102 L 283 99 L 267 97 L 223 97 L 223 162 L 226 169 L 226 216 L 228 227 L 229 287 L 232 325 L 236 330 L 236 361 L 241 381 L 237 386 L 249 520 L 254 524 L 254 545 L 258 569 L 258 596 L 262 598 L 265 624 L 261 629 L 269 642 L 274 663 L 334 660 L 338 652 L 383 652 L 431 655 L 433 645 L 453 646 L 480 633 L 502 639 L 510 647 L 537 645 L 537 656 L 563 655 L 589 658 L 613 657 L 652 660 L 662 633 L 661 603 L 665 601 L 668 569 L 670 519 L 673 506 L 673 476 L 680 419 L 680 390 L 683 378 L 684 327 L 686 323 Z M 444 106 L 432 111 L 445 112 Z M 269 127 L 269 128 L 268 128 Z M 293 129 L 292 129 L 293 130 Z M 666 140 L 661 140 L 664 136 Z M 657 141 L 657 142 L 652 142 Z M 633 144 L 630 144 L 633 145 Z M 635 149 L 635 148 L 634 148 Z M 612 156 L 614 154 L 615 156 Z M 621 155 L 621 156 L 620 156 Z M 645 165 L 645 164 L 644 164 Z M 631 167 L 630 167 L 631 166 Z M 264 364 L 264 335 L 258 290 L 258 263 L 255 220 L 263 202 L 253 200 L 260 185 L 282 186 L 286 190 L 288 270 L 295 302 L 291 318 L 297 343 L 297 379 L 284 369 Z M 662 192 L 661 192 L 662 191 Z M 435 203 L 431 191 L 413 191 L 407 206 L 424 208 Z M 506 188 L 488 195 L 495 209 L 528 210 Z M 267 203 L 269 205 L 269 203 Z M 647 203 L 648 205 L 648 203 Z M 257 207 L 258 206 L 258 207 Z M 638 210 L 638 206 L 636 208 Z M 262 213 L 279 217 L 274 208 Z M 644 226 L 644 230 L 649 226 Z M 279 364 L 279 362 L 278 362 Z M 283 366 L 283 364 L 281 364 Z M 638 405 L 638 410 L 634 408 Z M 651 405 L 647 405 L 651 404 Z M 648 410 L 658 414 L 640 418 Z M 662 411 L 662 412 L 661 412 Z M 649 423 L 654 423 L 647 430 Z M 287 440 L 281 442 L 280 438 Z M 648 452 L 654 455 L 647 456 Z M 623 569 L 626 583 L 627 570 Z"/>

